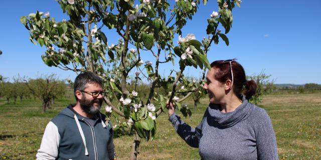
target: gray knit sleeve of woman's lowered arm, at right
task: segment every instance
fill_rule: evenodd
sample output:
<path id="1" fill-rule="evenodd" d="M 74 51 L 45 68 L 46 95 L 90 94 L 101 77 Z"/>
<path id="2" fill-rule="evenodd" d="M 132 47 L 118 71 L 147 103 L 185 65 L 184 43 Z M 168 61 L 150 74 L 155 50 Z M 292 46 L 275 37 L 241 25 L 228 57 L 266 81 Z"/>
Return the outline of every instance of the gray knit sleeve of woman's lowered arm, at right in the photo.
<path id="1" fill-rule="evenodd" d="M 278 159 L 276 138 L 269 115 L 260 108 L 256 117 L 258 122 L 255 126 L 255 138 L 258 159 Z"/>

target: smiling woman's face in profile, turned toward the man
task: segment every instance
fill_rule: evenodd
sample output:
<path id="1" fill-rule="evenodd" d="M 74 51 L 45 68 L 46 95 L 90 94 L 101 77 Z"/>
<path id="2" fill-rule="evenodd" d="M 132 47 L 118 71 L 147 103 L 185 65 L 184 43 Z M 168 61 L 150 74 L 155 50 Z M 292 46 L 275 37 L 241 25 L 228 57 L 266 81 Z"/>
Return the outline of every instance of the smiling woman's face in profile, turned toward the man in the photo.
<path id="1" fill-rule="evenodd" d="M 210 103 L 220 104 L 223 102 L 222 100 L 226 95 L 225 83 L 222 83 L 215 79 L 214 71 L 215 69 L 211 68 L 211 70 L 207 72 L 207 82 L 205 83 L 203 88 L 206 89 L 209 94 Z"/>

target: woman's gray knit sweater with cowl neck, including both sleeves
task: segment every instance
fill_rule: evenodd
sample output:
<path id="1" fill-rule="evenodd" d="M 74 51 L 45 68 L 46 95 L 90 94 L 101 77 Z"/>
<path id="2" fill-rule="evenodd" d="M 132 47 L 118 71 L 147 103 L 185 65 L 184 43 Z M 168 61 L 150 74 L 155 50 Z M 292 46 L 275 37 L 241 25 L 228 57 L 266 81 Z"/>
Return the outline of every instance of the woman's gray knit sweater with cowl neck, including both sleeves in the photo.
<path id="1" fill-rule="evenodd" d="M 232 112 L 210 104 L 192 128 L 176 113 L 169 117 L 179 135 L 198 147 L 202 159 L 278 159 L 275 134 L 266 111 L 246 99 Z"/>

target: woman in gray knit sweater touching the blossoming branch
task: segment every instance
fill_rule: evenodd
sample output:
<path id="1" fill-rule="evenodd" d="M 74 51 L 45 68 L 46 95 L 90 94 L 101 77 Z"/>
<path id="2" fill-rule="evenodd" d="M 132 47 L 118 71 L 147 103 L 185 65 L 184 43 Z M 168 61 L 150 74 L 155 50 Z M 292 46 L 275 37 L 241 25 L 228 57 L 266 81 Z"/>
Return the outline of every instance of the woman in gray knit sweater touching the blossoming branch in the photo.
<path id="1" fill-rule="evenodd" d="M 206 79 L 210 104 L 196 128 L 181 120 L 173 103 L 168 106 L 179 135 L 199 148 L 202 159 L 278 159 L 270 117 L 248 102 L 257 85 L 246 80 L 242 65 L 235 59 L 214 61 Z"/>

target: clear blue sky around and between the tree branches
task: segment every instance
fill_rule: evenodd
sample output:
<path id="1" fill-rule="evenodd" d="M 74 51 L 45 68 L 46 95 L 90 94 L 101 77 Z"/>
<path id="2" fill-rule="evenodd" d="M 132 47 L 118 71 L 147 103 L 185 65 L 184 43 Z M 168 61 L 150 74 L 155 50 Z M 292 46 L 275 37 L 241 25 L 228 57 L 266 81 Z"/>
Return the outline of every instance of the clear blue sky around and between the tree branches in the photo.
<path id="1" fill-rule="evenodd" d="M 174 1 L 174 0 L 173 0 Z M 31 12 L 49 11 L 57 21 L 68 17 L 62 14 L 56 0 L 2 0 L 0 2 L 0 74 L 4 77 L 56 73 L 61 79 L 74 79 L 76 73 L 49 67 L 41 59 L 45 48 L 29 40 L 29 32 L 20 23 L 20 16 Z M 321 84 L 321 0 L 242 0 L 241 8 L 233 10 L 233 27 L 227 34 L 230 44 L 223 40 L 212 45 L 209 61 L 238 58 L 248 75 L 263 69 L 275 83 Z M 216 0 L 209 0 L 183 29 L 183 35 L 194 33 L 198 40 L 206 35 L 207 21 Z M 118 36 L 107 32 L 108 43 L 116 43 Z M 177 41 L 176 35 L 175 41 Z M 144 61 L 150 55 L 144 55 Z M 173 67 L 172 65 L 170 67 Z M 169 66 L 161 66 L 167 74 Z M 177 68 L 177 66 L 175 66 Z M 200 71 L 190 68 L 192 76 Z"/>

